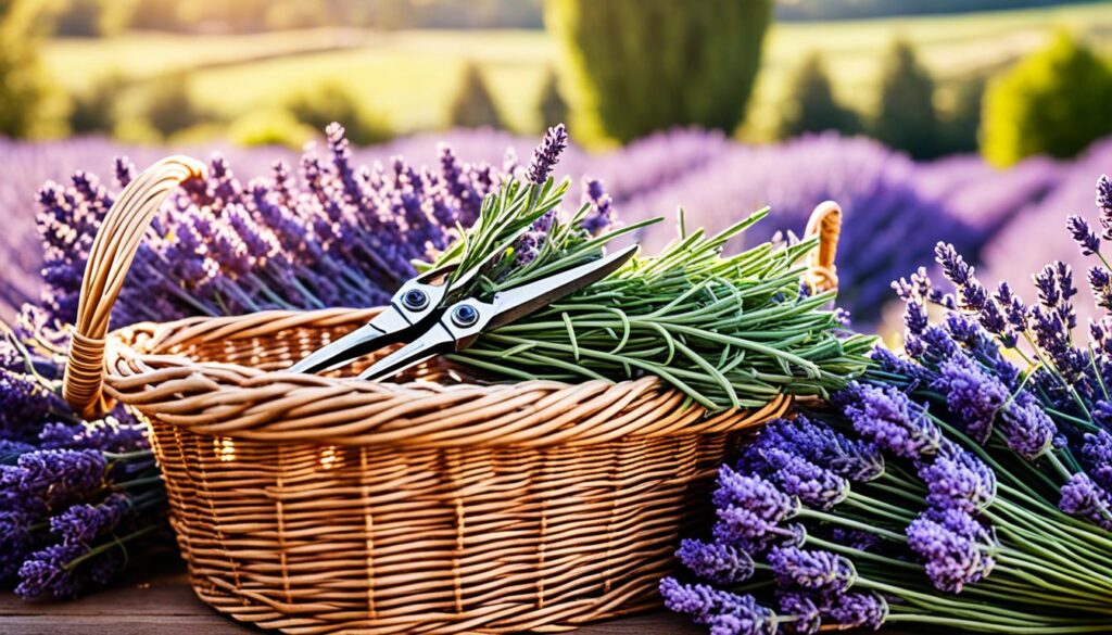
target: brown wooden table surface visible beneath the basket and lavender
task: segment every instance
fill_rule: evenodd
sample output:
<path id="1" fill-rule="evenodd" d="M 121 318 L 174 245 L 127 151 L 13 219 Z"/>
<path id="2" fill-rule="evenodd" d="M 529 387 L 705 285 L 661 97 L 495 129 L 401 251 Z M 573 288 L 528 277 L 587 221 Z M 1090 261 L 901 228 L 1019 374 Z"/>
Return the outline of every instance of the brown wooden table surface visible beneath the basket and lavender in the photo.
<path id="1" fill-rule="evenodd" d="M 262 631 L 237 623 L 193 595 L 179 567 L 150 579 L 73 602 L 24 602 L 0 594 L 2 635 L 234 635 Z M 576 635 L 696 635 L 706 633 L 667 613 L 585 626 Z"/>

